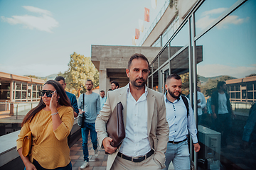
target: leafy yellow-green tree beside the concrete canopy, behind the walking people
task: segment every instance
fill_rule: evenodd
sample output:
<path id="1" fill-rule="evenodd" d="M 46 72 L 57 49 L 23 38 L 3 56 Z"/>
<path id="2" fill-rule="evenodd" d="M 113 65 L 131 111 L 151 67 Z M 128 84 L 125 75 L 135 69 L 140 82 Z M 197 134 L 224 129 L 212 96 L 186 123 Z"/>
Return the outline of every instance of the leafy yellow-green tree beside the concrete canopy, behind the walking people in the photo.
<path id="1" fill-rule="evenodd" d="M 70 55 L 70 62 L 68 63 L 68 70 L 58 76 L 63 76 L 67 83 L 67 91 L 75 89 L 76 94 L 80 96 L 80 92 L 85 92 L 85 81 L 91 79 L 94 87 L 99 85 L 99 72 L 92 64 L 90 57 L 78 55 L 74 52 Z"/>

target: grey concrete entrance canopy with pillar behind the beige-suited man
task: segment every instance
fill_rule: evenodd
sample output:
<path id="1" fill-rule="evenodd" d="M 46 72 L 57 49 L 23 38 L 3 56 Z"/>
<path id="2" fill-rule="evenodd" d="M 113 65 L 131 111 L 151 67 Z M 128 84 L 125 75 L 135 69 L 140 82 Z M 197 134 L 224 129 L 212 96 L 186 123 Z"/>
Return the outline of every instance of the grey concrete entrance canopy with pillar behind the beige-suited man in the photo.
<path id="1" fill-rule="evenodd" d="M 132 55 L 141 53 L 151 63 L 160 50 L 161 47 L 92 45 L 91 60 L 100 72 L 100 90 L 107 92 L 111 81 L 117 81 L 120 87 L 128 84 L 125 70 Z"/>

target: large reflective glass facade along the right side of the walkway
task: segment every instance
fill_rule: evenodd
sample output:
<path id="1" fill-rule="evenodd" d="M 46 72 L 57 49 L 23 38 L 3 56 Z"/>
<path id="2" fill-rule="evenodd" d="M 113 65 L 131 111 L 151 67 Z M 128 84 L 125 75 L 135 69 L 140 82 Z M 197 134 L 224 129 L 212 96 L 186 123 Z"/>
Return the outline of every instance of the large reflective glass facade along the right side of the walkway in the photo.
<path id="1" fill-rule="evenodd" d="M 149 87 L 156 91 L 166 92 L 169 74 L 182 78 L 182 93 L 193 103 L 198 123 L 201 151 L 193 161 L 200 169 L 256 167 L 256 105 L 250 109 L 256 102 L 255 11 L 254 0 L 200 1 L 175 35 L 165 34 L 169 38 L 163 38 L 166 44 L 151 63 Z M 227 113 L 215 111 L 222 101 L 216 97 L 222 94 L 220 81 L 227 85 Z M 193 91 L 198 91 L 197 98 L 189 95 Z"/>

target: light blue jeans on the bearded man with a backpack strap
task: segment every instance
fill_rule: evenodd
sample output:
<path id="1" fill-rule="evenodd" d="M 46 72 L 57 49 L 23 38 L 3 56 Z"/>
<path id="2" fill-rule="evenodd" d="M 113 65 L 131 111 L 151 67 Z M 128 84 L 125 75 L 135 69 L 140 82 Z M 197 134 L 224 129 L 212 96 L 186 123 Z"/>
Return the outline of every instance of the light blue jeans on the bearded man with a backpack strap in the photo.
<path id="1" fill-rule="evenodd" d="M 174 169 L 190 169 L 190 159 L 189 159 L 189 151 L 188 151 L 188 140 L 184 142 L 180 142 L 178 144 L 167 144 L 166 150 L 166 167 L 164 170 L 169 168 L 169 164 L 171 161 L 174 164 Z"/>

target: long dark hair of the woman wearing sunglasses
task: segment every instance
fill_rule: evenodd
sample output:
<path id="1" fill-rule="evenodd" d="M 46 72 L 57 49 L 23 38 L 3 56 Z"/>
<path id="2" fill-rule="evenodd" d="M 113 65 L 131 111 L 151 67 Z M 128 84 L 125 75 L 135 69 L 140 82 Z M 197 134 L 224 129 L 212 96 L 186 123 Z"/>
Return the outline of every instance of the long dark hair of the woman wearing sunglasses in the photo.
<path id="1" fill-rule="evenodd" d="M 60 106 L 70 106 L 70 107 L 72 107 L 71 104 L 70 104 L 70 101 L 68 99 L 67 94 L 65 94 L 65 91 L 64 91 L 63 87 L 61 86 L 61 84 L 58 81 L 48 80 L 48 81 L 46 81 L 45 84 L 43 84 L 43 86 L 46 85 L 46 84 L 50 84 L 56 89 L 58 96 L 60 96 L 60 98 L 58 99 L 58 103 L 60 104 Z M 26 116 L 23 118 L 21 126 L 23 126 L 23 124 L 26 123 L 28 120 L 29 120 L 29 122 L 31 122 L 31 120 L 36 115 L 36 113 L 38 113 L 39 111 L 41 111 L 45 107 L 46 107 L 46 104 L 43 103 L 43 99 L 41 98 L 39 103 L 38 103 L 38 106 L 36 106 L 36 108 L 32 108 L 31 111 L 29 111 L 26 114 Z"/>

